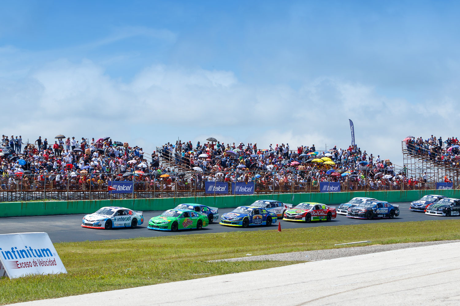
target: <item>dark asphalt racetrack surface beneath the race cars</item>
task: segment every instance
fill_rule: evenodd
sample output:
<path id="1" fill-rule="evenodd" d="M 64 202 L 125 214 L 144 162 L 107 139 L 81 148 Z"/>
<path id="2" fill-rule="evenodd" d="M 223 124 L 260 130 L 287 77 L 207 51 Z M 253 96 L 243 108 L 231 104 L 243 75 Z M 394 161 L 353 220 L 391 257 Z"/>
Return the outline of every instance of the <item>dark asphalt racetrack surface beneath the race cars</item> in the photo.
<path id="1" fill-rule="evenodd" d="M 343 215 L 337 215 L 337 218 L 331 222 L 312 221 L 305 222 L 289 222 L 281 221 L 282 228 L 305 228 L 315 226 L 334 226 L 334 225 L 349 225 L 362 223 L 376 222 L 407 222 L 407 221 L 424 221 L 445 219 L 446 217 L 427 216 L 423 212 L 409 211 L 409 202 L 394 203 L 399 204 L 400 214 L 394 219 L 354 219 L 347 218 Z M 334 206 L 334 205 L 331 205 Z M 336 207 L 338 205 L 335 205 Z M 219 209 L 219 217 L 226 212 L 232 211 L 233 208 Z M 56 215 L 56 216 L 35 216 L 35 217 L 7 217 L 0 218 L 0 234 L 24 233 L 24 232 L 46 232 L 50 236 L 52 242 L 66 241 L 86 241 L 86 240 L 110 240 L 123 238 L 137 237 L 156 237 L 167 235 L 186 235 L 186 234 L 204 234 L 204 233 L 220 233 L 233 231 L 253 231 L 253 230 L 276 230 L 278 223 L 271 226 L 258 227 L 230 227 L 222 226 L 219 223 L 212 223 L 201 230 L 179 230 L 177 232 L 156 231 L 147 229 L 151 217 L 158 216 L 163 211 L 144 211 L 144 223 L 137 228 L 115 228 L 111 230 L 82 228 L 81 220 L 85 215 Z"/>

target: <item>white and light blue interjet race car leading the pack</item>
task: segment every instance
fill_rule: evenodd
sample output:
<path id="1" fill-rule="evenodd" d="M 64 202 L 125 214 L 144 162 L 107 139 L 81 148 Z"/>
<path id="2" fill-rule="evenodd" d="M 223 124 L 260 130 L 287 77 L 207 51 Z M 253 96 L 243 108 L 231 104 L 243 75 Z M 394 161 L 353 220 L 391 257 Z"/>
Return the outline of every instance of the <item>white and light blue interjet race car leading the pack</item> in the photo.
<path id="1" fill-rule="evenodd" d="M 83 217 L 84 228 L 135 228 L 144 223 L 142 211 L 133 211 L 118 206 L 102 207 L 93 214 Z"/>

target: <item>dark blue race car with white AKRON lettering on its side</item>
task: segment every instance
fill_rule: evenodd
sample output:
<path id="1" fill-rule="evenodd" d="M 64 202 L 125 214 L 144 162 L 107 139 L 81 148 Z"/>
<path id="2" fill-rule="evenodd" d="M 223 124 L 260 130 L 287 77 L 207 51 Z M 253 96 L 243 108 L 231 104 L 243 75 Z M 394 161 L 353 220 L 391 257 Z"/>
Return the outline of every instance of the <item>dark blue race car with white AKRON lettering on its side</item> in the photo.
<path id="1" fill-rule="evenodd" d="M 351 207 L 347 217 L 372 220 L 377 218 L 390 218 L 399 216 L 399 205 L 385 201 L 364 201 L 359 206 Z"/>

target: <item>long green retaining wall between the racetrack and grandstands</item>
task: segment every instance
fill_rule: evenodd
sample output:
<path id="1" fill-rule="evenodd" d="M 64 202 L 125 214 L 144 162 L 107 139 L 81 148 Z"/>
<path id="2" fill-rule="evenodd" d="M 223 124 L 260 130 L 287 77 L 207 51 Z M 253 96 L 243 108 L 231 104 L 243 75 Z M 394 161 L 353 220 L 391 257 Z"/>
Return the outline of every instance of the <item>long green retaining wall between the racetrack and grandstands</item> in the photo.
<path id="1" fill-rule="evenodd" d="M 255 200 L 279 200 L 294 205 L 300 202 L 318 202 L 324 204 L 346 203 L 353 197 L 366 196 L 388 202 L 410 202 L 424 195 L 447 195 L 460 197 L 460 189 L 442 190 L 404 190 L 404 191 L 354 191 L 329 193 L 296 193 L 273 195 L 225 195 L 185 198 L 134 199 L 134 200 L 79 200 L 79 201 L 39 201 L 0 203 L 0 217 L 44 216 L 83 214 L 97 211 L 102 206 L 122 206 L 138 211 L 162 211 L 180 203 L 200 203 L 218 208 L 230 208 L 249 205 Z"/>

